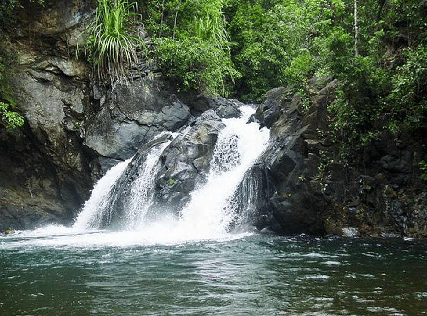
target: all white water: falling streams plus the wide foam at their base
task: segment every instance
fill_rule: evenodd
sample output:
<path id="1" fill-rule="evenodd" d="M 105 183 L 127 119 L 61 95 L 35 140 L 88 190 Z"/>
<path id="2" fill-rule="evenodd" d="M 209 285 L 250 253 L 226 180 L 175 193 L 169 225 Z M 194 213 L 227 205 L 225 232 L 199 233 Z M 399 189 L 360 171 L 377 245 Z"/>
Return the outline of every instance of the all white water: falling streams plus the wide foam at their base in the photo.
<path id="1" fill-rule="evenodd" d="M 151 203 L 150 188 L 154 185 L 155 163 L 168 145 L 166 143 L 153 149 L 141 167 L 143 172 L 132 188 L 132 199 L 122 231 L 112 232 L 92 227 L 97 227 L 105 203 L 108 203 L 108 194 L 131 159 L 120 162 L 98 181 L 73 227 L 47 226 L 18 234 L 31 238 L 34 244 L 79 247 L 180 244 L 210 239 L 230 240 L 251 234 L 231 234 L 226 231 L 235 216 L 230 198 L 245 171 L 265 149 L 269 131 L 266 128 L 260 130 L 256 123 L 246 124 L 254 109 L 245 106 L 240 110 L 243 112 L 241 118 L 223 119 L 226 128 L 219 133 L 208 181 L 193 191 L 190 203 L 183 209 L 179 219 L 165 215 L 155 222 L 143 220 Z M 47 235 L 50 238 L 37 238 Z"/>

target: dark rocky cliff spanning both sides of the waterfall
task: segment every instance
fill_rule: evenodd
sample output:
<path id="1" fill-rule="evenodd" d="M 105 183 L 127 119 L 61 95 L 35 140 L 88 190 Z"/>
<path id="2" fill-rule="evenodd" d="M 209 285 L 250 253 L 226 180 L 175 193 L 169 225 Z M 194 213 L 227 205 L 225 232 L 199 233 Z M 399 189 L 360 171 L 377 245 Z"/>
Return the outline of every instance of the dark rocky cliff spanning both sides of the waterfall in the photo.
<path id="1" fill-rule="evenodd" d="M 190 123 L 197 127 L 202 113 L 213 117 L 207 110 L 219 115 L 213 122 L 238 114 L 237 101 L 177 96 L 147 60 L 133 65 L 129 86 L 95 84 L 90 65 L 74 58 L 95 5 L 79 0 L 46 1 L 44 8 L 30 4 L 9 29 L 6 44 L 18 54 L 14 84 L 26 123 L 0 130 L 0 231 L 70 224 L 96 180 L 154 135 Z M 328 127 L 336 84 L 313 82 L 307 100 L 285 87 L 266 93 L 253 120 L 270 128 L 270 145 L 236 192 L 240 215 L 260 230 L 280 234 L 426 237 L 427 186 L 416 164 L 427 160 L 423 131 L 398 139 L 384 132 L 343 159 L 342 140 Z M 159 183 L 168 172 L 179 181 L 172 189 L 160 185 L 158 199 L 185 201 L 206 167 L 203 153 L 209 152 L 183 157 L 171 149 L 193 177 L 180 179 L 182 165 L 166 164 Z M 194 159 L 204 167 L 193 168 Z M 187 191 L 179 191 L 179 183 Z M 252 200 L 248 187 L 256 193 Z"/>

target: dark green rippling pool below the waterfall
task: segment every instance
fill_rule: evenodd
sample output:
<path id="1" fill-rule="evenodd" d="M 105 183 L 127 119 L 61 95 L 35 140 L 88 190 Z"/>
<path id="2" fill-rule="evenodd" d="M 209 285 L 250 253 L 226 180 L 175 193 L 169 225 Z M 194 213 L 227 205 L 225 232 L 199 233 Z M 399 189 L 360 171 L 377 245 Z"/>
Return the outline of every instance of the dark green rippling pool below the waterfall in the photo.
<path id="1" fill-rule="evenodd" d="M 0 237 L 0 315 L 427 315 L 424 242 L 120 238 Z"/>

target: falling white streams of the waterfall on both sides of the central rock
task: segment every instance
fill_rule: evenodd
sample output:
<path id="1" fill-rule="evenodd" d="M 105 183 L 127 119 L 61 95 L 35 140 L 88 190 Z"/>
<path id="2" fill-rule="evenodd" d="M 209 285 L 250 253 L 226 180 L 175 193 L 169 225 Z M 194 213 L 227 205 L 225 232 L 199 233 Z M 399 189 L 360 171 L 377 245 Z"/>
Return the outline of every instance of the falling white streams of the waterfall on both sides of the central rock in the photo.
<path id="1" fill-rule="evenodd" d="M 266 128 L 260 129 L 254 122 L 247 123 L 254 113 L 252 107 L 243 106 L 240 111 L 242 115 L 238 119 L 222 119 L 225 128 L 218 134 L 206 181 L 199 183 L 191 192 L 190 202 L 184 206 L 178 218 L 171 216 L 172 212 L 165 212 L 151 220 L 146 218 L 147 210 L 152 205 L 161 154 L 170 144 L 169 140 L 153 145 L 140 161 L 129 159 L 108 171 L 94 187 L 74 227 L 102 228 L 102 220 L 105 222 L 107 218 L 107 221 L 111 221 L 111 208 L 119 207 L 115 199 L 120 196 L 120 208 L 123 209 L 118 212 L 120 230 L 139 232 L 143 236 L 141 238 L 156 236 L 158 240 L 159 236 L 163 236 L 167 240 L 199 240 L 227 234 L 227 227 L 238 211 L 233 195 L 269 139 Z M 135 163 L 139 164 L 138 171 L 126 176 L 126 172 L 129 173 L 126 166 Z M 120 181 L 118 179 L 132 182 L 124 186 L 125 191 L 120 189 L 113 194 L 115 182 Z M 173 209 L 174 206 L 168 207 Z"/>

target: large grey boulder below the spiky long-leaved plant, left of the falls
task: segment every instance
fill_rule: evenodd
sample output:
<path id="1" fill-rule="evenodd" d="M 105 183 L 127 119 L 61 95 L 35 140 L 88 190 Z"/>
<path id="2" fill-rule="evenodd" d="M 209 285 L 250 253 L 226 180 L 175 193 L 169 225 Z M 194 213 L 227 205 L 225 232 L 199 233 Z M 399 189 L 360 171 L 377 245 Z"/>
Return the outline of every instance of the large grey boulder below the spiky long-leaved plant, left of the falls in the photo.
<path id="1" fill-rule="evenodd" d="M 98 89 L 97 89 L 98 90 Z M 98 98 L 101 93 L 97 91 Z M 190 110 L 161 80 L 116 87 L 88 126 L 85 145 L 99 155 L 125 160 L 162 131 L 176 131 L 191 118 Z"/>

